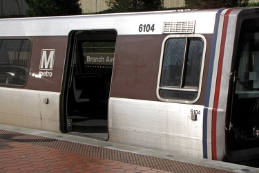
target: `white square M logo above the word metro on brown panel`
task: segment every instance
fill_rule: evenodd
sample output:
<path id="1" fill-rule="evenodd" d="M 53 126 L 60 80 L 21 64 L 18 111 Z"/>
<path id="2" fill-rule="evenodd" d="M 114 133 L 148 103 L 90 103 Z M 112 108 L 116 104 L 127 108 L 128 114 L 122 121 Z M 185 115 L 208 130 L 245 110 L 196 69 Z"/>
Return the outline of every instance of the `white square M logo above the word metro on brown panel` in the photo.
<path id="1" fill-rule="evenodd" d="M 39 69 L 52 70 L 54 66 L 54 60 L 55 60 L 55 49 L 42 49 Z"/>

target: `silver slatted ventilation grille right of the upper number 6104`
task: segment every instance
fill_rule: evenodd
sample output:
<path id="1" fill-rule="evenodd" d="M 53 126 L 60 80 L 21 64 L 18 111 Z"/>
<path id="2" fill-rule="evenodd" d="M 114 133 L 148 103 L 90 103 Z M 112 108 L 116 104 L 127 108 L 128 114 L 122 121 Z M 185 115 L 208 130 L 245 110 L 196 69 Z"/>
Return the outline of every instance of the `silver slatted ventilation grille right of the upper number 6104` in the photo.
<path id="1" fill-rule="evenodd" d="M 164 22 L 164 34 L 194 33 L 195 21 Z"/>

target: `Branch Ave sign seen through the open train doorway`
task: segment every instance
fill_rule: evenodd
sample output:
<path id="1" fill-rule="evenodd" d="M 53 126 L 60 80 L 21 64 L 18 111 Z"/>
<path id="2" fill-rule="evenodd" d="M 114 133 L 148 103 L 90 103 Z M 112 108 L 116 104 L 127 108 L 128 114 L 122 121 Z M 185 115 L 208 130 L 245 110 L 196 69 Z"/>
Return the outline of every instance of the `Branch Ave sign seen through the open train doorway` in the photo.
<path id="1" fill-rule="evenodd" d="M 84 53 L 84 64 L 113 65 L 114 53 Z"/>

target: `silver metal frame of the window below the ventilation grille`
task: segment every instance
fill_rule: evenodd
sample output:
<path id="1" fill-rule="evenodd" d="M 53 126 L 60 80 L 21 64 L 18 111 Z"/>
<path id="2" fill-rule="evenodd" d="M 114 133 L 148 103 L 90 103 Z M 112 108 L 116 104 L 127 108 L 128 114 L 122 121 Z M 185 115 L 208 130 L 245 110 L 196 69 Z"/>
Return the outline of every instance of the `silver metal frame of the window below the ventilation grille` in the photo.
<path id="1" fill-rule="evenodd" d="M 198 84 L 198 89 L 193 89 L 193 86 L 189 86 L 189 87 L 164 87 L 164 86 L 160 86 L 161 80 L 162 80 L 162 69 L 163 69 L 163 61 L 164 61 L 164 52 L 165 52 L 165 44 L 166 41 L 168 39 L 171 38 L 185 38 L 186 40 L 189 38 L 198 38 L 198 39 L 202 39 L 203 41 L 203 52 L 202 52 L 202 63 L 201 63 L 201 69 L 200 69 L 200 80 L 199 80 L 199 84 Z M 200 98 L 200 91 L 201 91 L 201 87 L 202 87 L 202 76 L 203 76 L 203 71 L 204 71 L 204 60 L 205 60 L 205 54 L 206 54 L 206 48 L 207 48 L 207 40 L 203 35 L 200 34 L 192 34 L 192 35 L 167 35 L 164 38 L 164 41 L 162 42 L 162 48 L 161 48 L 161 55 L 160 55 L 160 66 L 159 66 L 159 72 L 158 72 L 158 78 L 157 78 L 157 98 L 159 100 L 162 100 L 164 102 L 179 102 L 179 103 L 186 103 L 186 104 L 193 104 L 195 102 L 198 101 L 198 99 Z M 185 51 L 184 51 L 184 62 L 186 61 L 186 54 L 188 54 L 188 52 L 186 52 L 186 45 L 185 45 Z M 184 69 L 182 68 L 182 71 Z M 181 75 L 181 81 L 184 80 L 186 78 L 186 74 L 184 74 L 184 76 Z M 160 96 L 160 89 L 164 89 L 166 91 L 188 91 L 188 92 L 198 92 L 197 97 L 194 100 L 186 100 L 186 99 L 175 99 L 175 98 L 162 98 L 162 96 Z"/>

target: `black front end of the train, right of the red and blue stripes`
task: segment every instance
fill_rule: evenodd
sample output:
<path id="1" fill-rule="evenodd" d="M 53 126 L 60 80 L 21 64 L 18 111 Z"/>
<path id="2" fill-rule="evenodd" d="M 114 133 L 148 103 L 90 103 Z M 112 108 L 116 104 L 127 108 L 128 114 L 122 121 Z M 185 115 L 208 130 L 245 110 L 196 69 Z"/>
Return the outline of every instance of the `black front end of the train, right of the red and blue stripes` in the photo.
<path id="1" fill-rule="evenodd" d="M 227 159 L 259 167 L 259 9 L 240 13 L 230 75 Z"/>

